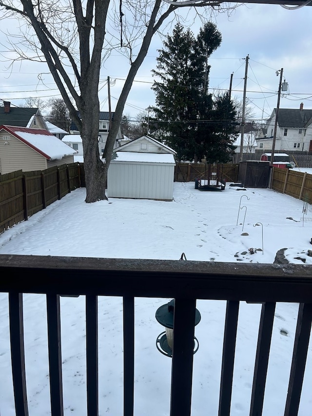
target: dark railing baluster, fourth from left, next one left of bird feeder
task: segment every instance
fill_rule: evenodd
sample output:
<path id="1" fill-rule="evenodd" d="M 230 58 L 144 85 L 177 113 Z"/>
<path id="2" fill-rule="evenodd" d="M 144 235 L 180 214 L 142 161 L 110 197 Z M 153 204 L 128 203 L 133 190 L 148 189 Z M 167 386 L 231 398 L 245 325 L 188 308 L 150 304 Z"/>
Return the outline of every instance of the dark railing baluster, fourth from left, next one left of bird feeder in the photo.
<path id="1" fill-rule="evenodd" d="M 133 416 L 135 374 L 134 297 L 123 297 L 123 415 Z"/>

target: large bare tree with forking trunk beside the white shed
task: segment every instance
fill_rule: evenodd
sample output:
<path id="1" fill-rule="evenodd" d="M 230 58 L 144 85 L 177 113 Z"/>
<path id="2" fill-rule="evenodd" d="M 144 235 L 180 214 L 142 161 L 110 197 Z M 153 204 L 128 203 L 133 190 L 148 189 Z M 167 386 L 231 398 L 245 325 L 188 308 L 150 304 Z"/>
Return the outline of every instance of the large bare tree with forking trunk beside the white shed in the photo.
<path id="1" fill-rule="evenodd" d="M 122 111 L 153 35 L 178 7 L 192 5 L 190 1 L 166 1 L 124 0 L 110 4 L 110 0 L 0 0 L 2 19 L 20 20 L 20 39 L 11 38 L 17 59 L 46 61 L 81 134 L 86 202 L 106 199 L 105 181 Z M 203 0 L 195 1 L 195 5 L 213 6 L 206 11 L 214 11 L 214 7 L 217 12 L 229 10 L 228 4 L 222 2 Z M 32 48 L 33 56 L 23 52 L 23 45 L 27 45 L 26 50 Z M 98 83 L 102 60 L 114 48 L 128 55 L 130 68 L 117 101 L 103 163 L 98 154 Z"/>

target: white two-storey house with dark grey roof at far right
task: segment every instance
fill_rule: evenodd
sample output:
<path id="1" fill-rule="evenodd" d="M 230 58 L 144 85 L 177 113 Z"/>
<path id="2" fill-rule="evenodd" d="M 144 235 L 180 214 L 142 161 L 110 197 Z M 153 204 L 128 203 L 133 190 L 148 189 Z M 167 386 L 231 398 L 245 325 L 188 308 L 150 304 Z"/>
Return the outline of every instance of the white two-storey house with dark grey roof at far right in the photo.
<path id="1" fill-rule="evenodd" d="M 260 137 L 256 139 L 258 149 L 272 150 L 276 108 L 274 108 Z M 312 151 L 312 110 L 280 108 L 278 110 L 275 151 Z"/>

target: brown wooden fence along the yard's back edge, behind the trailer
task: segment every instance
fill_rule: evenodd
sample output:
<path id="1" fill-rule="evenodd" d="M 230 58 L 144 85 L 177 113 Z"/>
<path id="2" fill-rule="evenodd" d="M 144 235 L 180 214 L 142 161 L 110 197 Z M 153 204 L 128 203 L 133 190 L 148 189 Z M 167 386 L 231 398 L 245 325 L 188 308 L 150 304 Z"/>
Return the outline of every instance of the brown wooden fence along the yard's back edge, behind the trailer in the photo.
<path id="1" fill-rule="evenodd" d="M 222 169 L 220 168 L 220 171 Z M 175 167 L 176 182 L 191 182 L 195 178 L 202 179 L 208 173 L 206 163 L 177 163 Z M 222 179 L 226 182 L 236 182 L 238 175 L 238 164 L 224 163 Z"/>

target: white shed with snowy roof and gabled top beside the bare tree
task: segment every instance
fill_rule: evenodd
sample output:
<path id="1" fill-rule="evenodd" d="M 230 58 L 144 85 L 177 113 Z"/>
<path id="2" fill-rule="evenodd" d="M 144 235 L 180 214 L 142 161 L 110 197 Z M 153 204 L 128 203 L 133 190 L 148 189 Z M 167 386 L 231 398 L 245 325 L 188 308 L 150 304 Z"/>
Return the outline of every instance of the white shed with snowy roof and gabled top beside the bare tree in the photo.
<path id="1" fill-rule="evenodd" d="M 109 197 L 173 200 L 173 149 L 142 136 L 114 149 L 114 153 L 107 176 Z"/>

